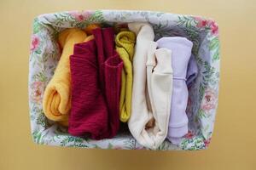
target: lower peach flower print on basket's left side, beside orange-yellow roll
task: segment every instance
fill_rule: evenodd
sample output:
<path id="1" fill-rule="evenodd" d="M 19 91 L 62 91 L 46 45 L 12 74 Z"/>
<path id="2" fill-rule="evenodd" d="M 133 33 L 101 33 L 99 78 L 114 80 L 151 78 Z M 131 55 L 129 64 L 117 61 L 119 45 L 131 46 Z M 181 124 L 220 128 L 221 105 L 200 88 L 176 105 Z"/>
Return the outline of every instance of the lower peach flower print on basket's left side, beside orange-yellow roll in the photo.
<path id="1" fill-rule="evenodd" d="M 40 104 L 43 99 L 44 83 L 43 82 L 33 82 L 31 85 L 32 92 L 30 97 L 32 102 Z"/>

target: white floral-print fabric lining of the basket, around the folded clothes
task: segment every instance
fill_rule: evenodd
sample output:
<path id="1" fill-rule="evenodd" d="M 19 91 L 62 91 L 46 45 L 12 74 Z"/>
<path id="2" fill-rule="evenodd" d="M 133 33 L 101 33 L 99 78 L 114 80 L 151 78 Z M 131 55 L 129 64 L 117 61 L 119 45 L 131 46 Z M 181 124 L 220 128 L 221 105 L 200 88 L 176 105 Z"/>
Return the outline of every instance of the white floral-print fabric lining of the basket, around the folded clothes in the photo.
<path id="1" fill-rule="evenodd" d="M 116 26 L 129 22 L 148 22 L 154 28 L 155 40 L 160 37 L 187 37 L 193 42 L 192 53 L 199 68 L 198 76 L 189 88 L 187 115 L 189 133 L 180 144 L 166 141 L 158 150 L 202 150 L 212 138 L 218 105 L 219 39 L 218 26 L 203 17 L 151 11 L 96 10 L 43 14 L 33 22 L 29 59 L 29 106 L 32 139 L 37 144 L 82 148 L 141 150 L 131 133 L 119 133 L 113 139 L 82 139 L 67 133 L 67 128 L 44 116 L 44 89 L 53 76 L 61 56 L 56 42 L 58 33 L 66 28 L 84 28 L 92 23 Z"/>

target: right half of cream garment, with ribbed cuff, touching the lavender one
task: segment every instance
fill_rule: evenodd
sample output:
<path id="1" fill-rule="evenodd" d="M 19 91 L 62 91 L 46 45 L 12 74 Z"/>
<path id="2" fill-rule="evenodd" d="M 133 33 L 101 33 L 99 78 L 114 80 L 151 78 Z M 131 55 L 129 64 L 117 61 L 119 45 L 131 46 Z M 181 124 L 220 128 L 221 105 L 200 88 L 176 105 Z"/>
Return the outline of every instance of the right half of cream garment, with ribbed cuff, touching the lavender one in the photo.
<path id="1" fill-rule="evenodd" d="M 157 48 L 152 42 L 148 48 L 147 86 L 153 121 L 146 126 L 146 131 L 156 149 L 166 139 L 172 99 L 172 52 L 166 48 Z"/>

